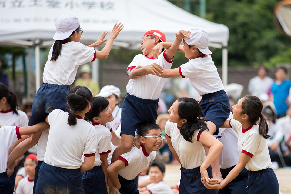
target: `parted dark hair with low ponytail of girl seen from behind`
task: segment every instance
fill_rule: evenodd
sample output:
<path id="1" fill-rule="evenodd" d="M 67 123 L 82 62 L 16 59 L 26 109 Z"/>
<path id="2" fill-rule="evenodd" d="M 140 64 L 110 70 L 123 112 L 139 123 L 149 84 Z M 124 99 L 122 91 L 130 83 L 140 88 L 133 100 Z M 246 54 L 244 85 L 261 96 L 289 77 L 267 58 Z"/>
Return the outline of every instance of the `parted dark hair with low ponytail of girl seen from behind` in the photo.
<path id="1" fill-rule="evenodd" d="M 67 102 L 70 108 L 68 125 L 74 126 L 77 124 L 75 111 L 81 112 L 87 107 L 88 103 L 92 103 L 92 93 L 85 86 L 75 86 L 70 89 L 67 95 Z"/>

